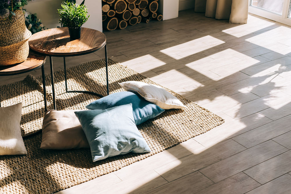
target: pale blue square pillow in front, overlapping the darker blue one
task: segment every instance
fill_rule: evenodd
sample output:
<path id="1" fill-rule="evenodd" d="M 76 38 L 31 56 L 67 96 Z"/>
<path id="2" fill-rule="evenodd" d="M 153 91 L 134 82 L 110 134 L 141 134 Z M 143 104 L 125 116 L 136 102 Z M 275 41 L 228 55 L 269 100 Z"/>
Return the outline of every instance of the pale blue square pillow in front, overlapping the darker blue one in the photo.
<path id="1" fill-rule="evenodd" d="M 135 125 L 132 104 L 75 114 L 89 142 L 93 162 L 128 152 L 151 152 Z"/>

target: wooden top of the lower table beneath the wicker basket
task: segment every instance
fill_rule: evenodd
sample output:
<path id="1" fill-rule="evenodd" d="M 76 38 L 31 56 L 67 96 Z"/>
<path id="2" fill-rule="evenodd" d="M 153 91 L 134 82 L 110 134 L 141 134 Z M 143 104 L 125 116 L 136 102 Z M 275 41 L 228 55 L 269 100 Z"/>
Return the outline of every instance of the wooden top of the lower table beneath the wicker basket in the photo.
<path id="1" fill-rule="evenodd" d="M 0 66 L 0 75 L 4 76 L 29 72 L 45 63 L 45 59 L 45 55 L 29 50 L 29 55 L 24 62 L 16 63 L 14 65 Z"/>

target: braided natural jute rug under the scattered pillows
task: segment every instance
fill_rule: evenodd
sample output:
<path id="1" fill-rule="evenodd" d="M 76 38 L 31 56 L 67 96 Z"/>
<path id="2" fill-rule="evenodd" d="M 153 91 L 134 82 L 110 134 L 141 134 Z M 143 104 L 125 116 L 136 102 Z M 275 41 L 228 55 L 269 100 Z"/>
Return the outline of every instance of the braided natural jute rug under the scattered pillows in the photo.
<path id="1" fill-rule="evenodd" d="M 104 60 L 97 60 L 68 69 L 69 89 L 89 90 L 106 95 L 104 64 Z M 86 109 L 87 104 L 98 99 L 83 93 L 65 93 L 64 71 L 55 72 L 54 75 L 58 110 Z M 156 84 L 141 74 L 109 60 L 110 93 L 123 91 L 118 83 L 132 80 Z M 46 75 L 46 83 L 49 108 L 52 109 L 50 75 Z M 0 86 L 1 105 L 23 103 L 23 136 L 41 129 L 44 114 L 42 90 L 41 77 L 30 75 L 23 81 Z M 54 193 L 162 152 L 224 122 L 210 111 L 171 90 L 168 91 L 178 97 L 187 108 L 166 110 L 157 118 L 138 126 L 152 150 L 151 153 L 129 153 L 93 163 L 90 149 L 40 149 L 40 133 L 24 138 L 27 155 L 0 156 L 0 193 Z"/>

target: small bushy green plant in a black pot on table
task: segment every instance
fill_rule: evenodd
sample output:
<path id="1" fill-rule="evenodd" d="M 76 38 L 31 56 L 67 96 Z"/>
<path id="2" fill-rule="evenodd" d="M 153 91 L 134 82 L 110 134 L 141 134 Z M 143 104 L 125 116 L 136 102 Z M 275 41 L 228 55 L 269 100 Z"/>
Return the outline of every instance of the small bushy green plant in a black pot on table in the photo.
<path id="1" fill-rule="evenodd" d="M 62 27 L 66 26 L 69 28 L 70 40 L 79 39 L 81 37 L 81 26 L 90 17 L 86 6 L 84 3 L 79 5 L 70 1 L 63 2 L 61 6 L 62 9 L 58 9 L 58 14 L 61 17 L 60 23 Z"/>

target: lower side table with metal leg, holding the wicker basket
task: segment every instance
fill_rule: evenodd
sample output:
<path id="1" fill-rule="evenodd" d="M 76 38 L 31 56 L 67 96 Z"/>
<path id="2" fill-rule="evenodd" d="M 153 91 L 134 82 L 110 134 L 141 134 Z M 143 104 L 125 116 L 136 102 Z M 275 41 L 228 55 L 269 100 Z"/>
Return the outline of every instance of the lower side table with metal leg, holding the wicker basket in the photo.
<path id="1" fill-rule="evenodd" d="M 45 111 L 47 111 L 47 99 L 46 99 L 47 94 L 45 90 L 45 68 L 44 68 L 45 59 L 46 59 L 45 55 L 29 50 L 29 55 L 24 62 L 16 63 L 14 65 L 0 66 L 0 76 L 23 74 L 41 67 L 43 96 L 45 100 Z"/>

